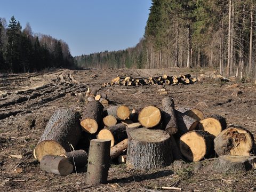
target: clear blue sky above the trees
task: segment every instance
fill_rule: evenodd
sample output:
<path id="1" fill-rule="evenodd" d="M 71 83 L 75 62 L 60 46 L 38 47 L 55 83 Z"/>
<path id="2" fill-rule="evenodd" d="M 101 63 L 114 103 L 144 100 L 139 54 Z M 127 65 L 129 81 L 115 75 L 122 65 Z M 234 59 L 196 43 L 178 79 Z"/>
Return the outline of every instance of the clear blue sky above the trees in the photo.
<path id="1" fill-rule="evenodd" d="M 73 56 L 135 46 L 143 37 L 150 0 L 0 0 L 0 17 L 51 35 Z"/>

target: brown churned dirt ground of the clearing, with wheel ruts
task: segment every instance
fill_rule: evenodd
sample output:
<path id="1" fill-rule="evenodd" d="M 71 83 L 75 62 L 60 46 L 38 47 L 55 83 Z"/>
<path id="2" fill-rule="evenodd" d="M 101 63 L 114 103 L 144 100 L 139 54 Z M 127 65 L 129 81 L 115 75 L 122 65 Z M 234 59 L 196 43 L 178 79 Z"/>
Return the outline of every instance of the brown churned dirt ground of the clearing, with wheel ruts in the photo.
<path id="1" fill-rule="evenodd" d="M 191 69 L 53 69 L 33 74 L 0 75 L 0 191 L 163 191 L 161 187 L 180 187 L 182 191 L 254 191 L 256 171 L 219 175 L 211 171 L 214 160 L 198 163 L 176 162 L 159 170 L 127 170 L 125 164 L 112 164 L 108 184 L 87 188 L 86 170 L 67 177 L 44 173 L 34 159 L 33 149 L 53 111 L 69 107 L 82 113 L 84 104 L 74 93 L 87 87 L 100 87 L 116 76 L 149 77 L 195 74 Z M 140 110 L 147 105 L 160 107 L 166 95 L 157 86 L 111 86 L 102 88 L 111 105 L 124 103 Z M 256 135 L 256 85 L 222 83 L 213 79 L 193 85 L 165 85 L 178 107 L 196 107 L 205 116 L 222 115 L 228 124 L 244 126 Z M 235 91 L 241 91 L 238 95 Z M 15 158 L 12 155 L 21 155 Z M 21 167 L 22 173 L 14 168 Z M 173 191 L 173 190 L 164 190 Z"/>

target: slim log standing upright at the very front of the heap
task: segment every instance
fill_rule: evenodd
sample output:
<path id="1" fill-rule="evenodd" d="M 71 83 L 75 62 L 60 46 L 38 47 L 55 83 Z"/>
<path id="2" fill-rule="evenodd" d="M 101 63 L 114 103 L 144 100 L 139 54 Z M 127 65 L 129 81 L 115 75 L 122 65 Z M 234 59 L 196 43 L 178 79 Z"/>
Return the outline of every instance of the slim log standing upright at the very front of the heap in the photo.
<path id="1" fill-rule="evenodd" d="M 109 170 L 110 140 L 93 139 L 90 143 L 87 177 L 88 185 L 107 183 Z"/>

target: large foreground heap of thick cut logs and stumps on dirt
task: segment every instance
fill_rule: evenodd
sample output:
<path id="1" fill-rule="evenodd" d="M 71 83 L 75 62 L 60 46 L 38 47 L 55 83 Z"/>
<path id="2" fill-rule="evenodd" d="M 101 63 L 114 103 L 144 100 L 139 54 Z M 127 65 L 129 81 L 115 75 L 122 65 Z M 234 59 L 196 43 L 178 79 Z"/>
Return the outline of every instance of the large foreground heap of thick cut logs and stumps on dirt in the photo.
<path id="1" fill-rule="evenodd" d="M 249 130 L 227 127 L 220 115 L 205 117 L 199 109 L 176 107 L 170 97 L 160 107 L 145 106 L 141 111 L 125 105 L 103 107 L 94 99 L 82 116 L 65 108 L 55 111 L 34 155 L 42 170 L 59 175 L 88 162 L 87 183 L 94 185 L 106 183 L 109 159 L 147 170 L 169 166 L 177 159 L 197 162 L 220 156 L 213 169 L 223 173 L 225 166 L 227 172 L 236 172 L 256 165 L 256 158 L 250 156 L 253 147 Z"/>

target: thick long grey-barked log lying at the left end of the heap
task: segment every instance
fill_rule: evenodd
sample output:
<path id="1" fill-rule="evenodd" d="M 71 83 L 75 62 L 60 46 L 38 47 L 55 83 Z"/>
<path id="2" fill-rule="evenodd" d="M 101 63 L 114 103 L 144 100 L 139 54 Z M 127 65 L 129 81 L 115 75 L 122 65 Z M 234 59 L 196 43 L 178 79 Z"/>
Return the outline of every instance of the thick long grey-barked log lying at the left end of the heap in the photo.
<path id="1" fill-rule="evenodd" d="M 60 155 L 76 147 L 81 137 L 79 113 L 62 108 L 54 112 L 35 148 L 35 157 L 41 161 L 44 155 Z"/>

